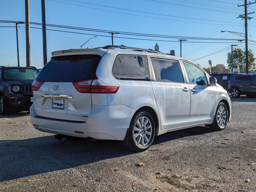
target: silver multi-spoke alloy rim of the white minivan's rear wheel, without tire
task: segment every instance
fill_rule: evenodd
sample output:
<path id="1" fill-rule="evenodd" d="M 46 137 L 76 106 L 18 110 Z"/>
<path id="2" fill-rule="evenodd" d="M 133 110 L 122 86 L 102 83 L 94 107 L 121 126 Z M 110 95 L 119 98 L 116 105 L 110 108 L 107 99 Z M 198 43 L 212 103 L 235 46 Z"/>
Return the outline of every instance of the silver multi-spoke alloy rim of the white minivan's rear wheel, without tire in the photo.
<path id="1" fill-rule="evenodd" d="M 152 137 L 152 123 L 149 118 L 142 116 L 134 125 L 133 138 L 138 146 L 146 146 Z"/>

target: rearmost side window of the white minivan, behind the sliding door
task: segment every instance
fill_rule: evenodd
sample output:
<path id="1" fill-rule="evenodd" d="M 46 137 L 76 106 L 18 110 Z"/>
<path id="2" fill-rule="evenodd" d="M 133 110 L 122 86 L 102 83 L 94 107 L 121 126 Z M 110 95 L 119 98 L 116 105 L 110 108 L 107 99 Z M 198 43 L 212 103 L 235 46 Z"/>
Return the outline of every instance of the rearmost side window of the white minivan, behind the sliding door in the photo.
<path id="1" fill-rule="evenodd" d="M 144 55 L 118 54 L 112 68 L 117 79 L 149 80 L 148 61 Z"/>

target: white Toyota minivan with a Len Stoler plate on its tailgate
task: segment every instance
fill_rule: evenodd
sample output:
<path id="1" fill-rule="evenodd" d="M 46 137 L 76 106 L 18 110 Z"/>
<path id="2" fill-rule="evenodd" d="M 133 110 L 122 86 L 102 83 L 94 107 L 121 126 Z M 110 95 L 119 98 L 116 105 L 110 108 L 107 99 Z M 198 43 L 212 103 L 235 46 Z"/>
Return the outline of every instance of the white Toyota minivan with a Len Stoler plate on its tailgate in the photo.
<path id="1" fill-rule="evenodd" d="M 231 119 L 226 90 L 197 64 L 126 46 L 52 52 L 32 84 L 34 128 L 135 151 L 157 135 L 194 126 L 223 130 Z"/>

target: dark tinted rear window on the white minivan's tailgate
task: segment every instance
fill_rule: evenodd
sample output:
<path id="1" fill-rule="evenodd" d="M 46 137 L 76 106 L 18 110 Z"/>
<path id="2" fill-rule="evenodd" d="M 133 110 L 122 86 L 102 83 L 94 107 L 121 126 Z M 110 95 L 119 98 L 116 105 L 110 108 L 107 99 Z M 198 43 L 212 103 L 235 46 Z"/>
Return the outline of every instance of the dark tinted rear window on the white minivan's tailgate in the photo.
<path id="1" fill-rule="evenodd" d="M 76 82 L 95 78 L 100 59 L 99 55 L 52 57 L 36 78 L 44 82 Z"/>

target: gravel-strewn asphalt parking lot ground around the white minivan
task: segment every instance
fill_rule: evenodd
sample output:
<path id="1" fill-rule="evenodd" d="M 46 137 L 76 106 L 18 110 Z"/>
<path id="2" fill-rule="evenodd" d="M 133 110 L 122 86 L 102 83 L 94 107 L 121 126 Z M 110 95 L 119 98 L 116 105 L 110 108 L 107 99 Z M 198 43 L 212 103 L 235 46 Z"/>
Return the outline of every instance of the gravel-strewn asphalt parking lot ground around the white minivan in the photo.
<path id="1" fill-rule="evenodd" d="M 223 131 L 196 127 L 134 153 L 119 141 L 54 140 L 28 112 L 0 116 L 0 191 L 256 191 L 256 98 Z M 138 165 L 138 163 L 142 163 Z"/>

